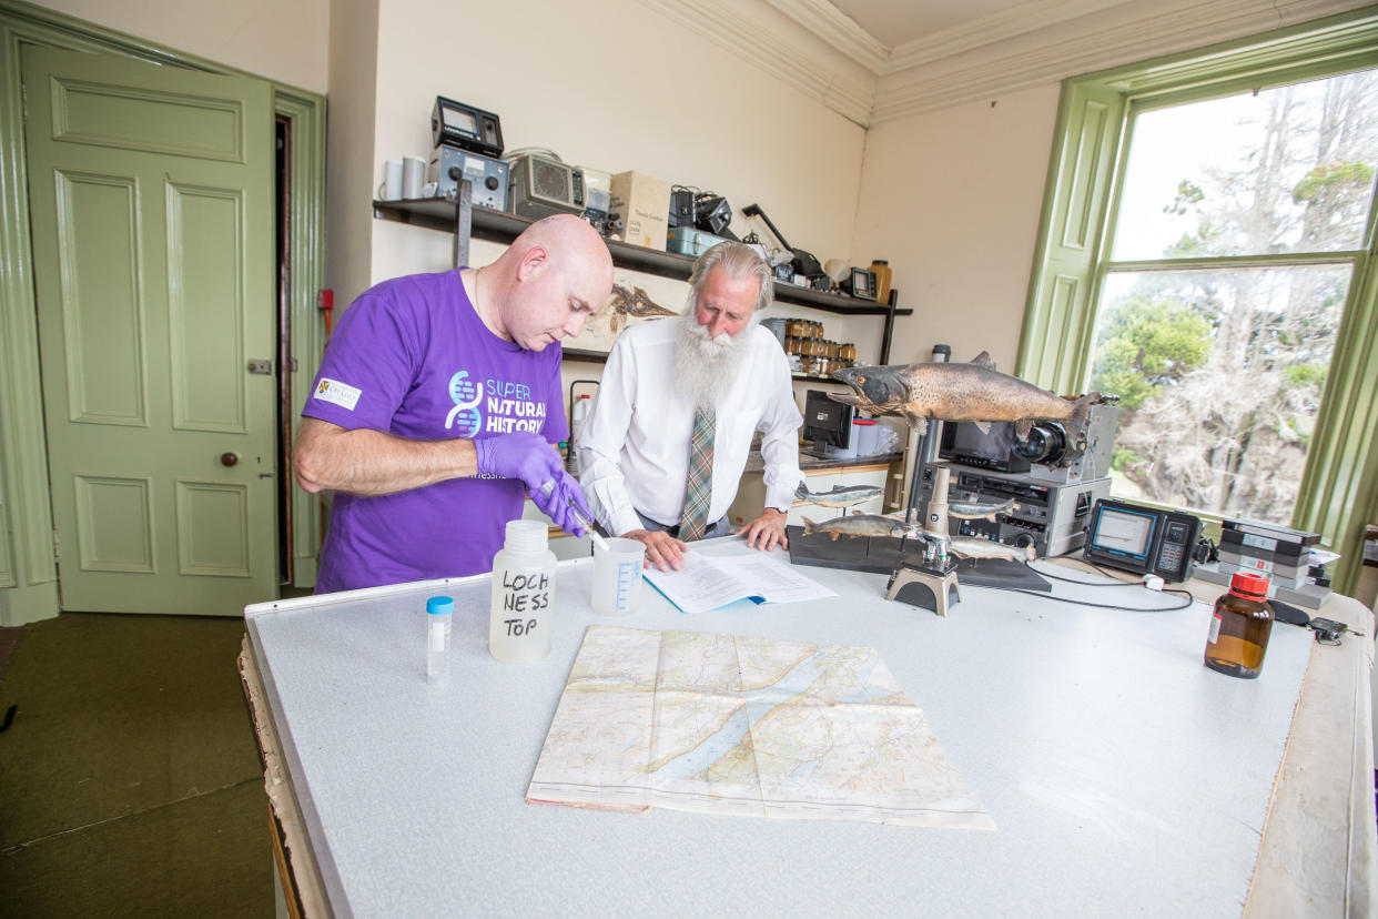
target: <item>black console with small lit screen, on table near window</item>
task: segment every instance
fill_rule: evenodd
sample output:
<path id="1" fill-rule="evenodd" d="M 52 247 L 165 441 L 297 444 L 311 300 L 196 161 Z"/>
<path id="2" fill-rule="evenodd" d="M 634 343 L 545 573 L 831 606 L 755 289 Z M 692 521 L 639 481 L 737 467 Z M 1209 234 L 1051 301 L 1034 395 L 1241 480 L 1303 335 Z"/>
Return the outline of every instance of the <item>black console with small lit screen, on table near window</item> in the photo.
<path id="1" fill-rule="evenodd" d="M 1086 524 L 1082 557 L 1175 584 L 1192 575 L 1192 550 L 1200 532 L 1199 517 L 1102 499 Z"/>

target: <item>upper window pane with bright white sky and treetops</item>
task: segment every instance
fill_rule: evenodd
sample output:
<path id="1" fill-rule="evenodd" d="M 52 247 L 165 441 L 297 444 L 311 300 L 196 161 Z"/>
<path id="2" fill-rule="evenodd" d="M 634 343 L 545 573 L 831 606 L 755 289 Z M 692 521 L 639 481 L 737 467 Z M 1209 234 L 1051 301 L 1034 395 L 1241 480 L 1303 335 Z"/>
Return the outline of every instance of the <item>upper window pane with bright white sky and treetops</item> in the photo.
<path id="1" fill-rule="evenodd" d="M 1378 72 L 1141 113 L 1113 259 L 1363 247 Z"/>

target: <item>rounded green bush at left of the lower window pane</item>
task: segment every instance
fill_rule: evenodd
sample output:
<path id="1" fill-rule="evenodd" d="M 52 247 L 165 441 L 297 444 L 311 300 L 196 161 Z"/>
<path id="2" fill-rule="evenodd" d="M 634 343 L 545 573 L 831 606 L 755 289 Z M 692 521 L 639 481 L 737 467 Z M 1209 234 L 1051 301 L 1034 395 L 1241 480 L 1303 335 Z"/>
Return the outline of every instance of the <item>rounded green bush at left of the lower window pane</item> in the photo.
<path id="1" fill-rule="evenodd" d="M 1160 387 L 1204 365 L 1210 322 L 1174 298 L 1134 295 L 1118 304 L 1101 329 L 1091 387 L 1120 397 L 1131 411 Z"/>

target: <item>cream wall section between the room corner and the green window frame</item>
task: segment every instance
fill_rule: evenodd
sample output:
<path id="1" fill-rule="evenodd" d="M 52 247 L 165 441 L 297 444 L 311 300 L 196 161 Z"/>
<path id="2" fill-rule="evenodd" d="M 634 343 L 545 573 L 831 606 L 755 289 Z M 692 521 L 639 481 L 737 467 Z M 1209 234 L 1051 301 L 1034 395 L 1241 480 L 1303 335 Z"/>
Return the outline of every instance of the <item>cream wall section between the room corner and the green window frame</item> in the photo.
<path id="1" fill-rule="evenodd" d="M 1058 85 L 882 123 L 867 134 L 852 260 L 889 259 L 893 362 L 933 344 L 1010 372 L 1043 207 Z M 992 105 L 994 103 L 994 105 Z"/>

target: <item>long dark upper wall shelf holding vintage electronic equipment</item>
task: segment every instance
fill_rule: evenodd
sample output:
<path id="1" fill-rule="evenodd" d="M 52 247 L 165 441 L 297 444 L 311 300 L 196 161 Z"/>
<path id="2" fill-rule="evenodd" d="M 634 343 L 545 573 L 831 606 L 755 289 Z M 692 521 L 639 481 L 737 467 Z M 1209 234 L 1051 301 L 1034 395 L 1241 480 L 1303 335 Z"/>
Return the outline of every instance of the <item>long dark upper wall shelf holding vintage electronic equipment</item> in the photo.
<path id="1" fill-rule="evenodd" d="M 445 198 L 373 201 L 373 216 L 383 220 L 397 220 L 398 223 L 411 223 L 413 226 L 423 226 L 431 230 L 453 233 L 455 208 L 456 204 Z M 470 230 L 470 236 L 493 242 L 511 242 L 531 225 L 532 220 L 515 214 L 489 211 L 488 208 L 475 207 L 473 209 L 473 227 Z M 689 271 L 693 269 L 695 263 L 695 259 L 688 255 L 657 252 L 656 249 L 631 245 L 630 242 L 616 242 L 613 240 L 608 241 L 608 251 L 612 252 L 612 260 L 615 265 L 679 281 L 689 278 Z M 795 284 L 781 284 L 780 281 L 774 282 L 774 299 L 780 303 L 808 306 L 809 309 L 823 310 L 824 313 L 836 313 L 839 316 L 890 314 L 890 307 L 881 303 L 857 300 L 850 296 L 842 296 L 841 293 L 823 293 L 821 291 L 812 291 Z M 894 310 L 894 316 L 912 314 L 912 309 L 897 307 Z M 597 354 L 597 351 L 576 351 L 575 349 L 566 349 L 565 354 L 588 361 L 599 360 L 597 357 L 591 357 Z M 604 355 L 602 360 L 606 360 L 606 355 Z"/>

